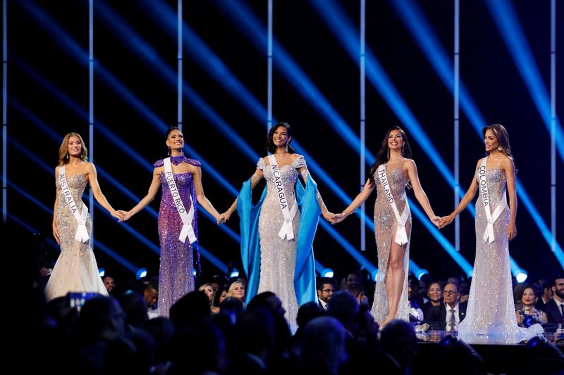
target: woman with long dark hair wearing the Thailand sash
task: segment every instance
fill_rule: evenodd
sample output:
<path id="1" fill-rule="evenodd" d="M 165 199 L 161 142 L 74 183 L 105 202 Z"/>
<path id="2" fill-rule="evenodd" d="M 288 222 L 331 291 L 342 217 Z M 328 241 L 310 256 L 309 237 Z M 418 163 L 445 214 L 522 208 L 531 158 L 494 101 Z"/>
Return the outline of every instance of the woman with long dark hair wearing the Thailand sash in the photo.
<path id="1" fill-rule="evenodd" d="M 411 149 L 405 132 L 400 127 L 392 127 L 386 133 L 382 146 L 376 154 L 376 162 L 370 170 L 370 177 L 364 189 L 355 200 L 350 203 L 341 214 L 335 215 L 333 222 L 340 222 L 353 213 L 376 186 L 376 203 L 374 204 L 374 230 L 376 246 L 378 248 L 378 275 L 374 289 L 374 303 L 372 315 L 376 322 L 385 326 L 393 319 L 402 319 L 409 322 L 409 305 L 407 303 L 407 272 L 409 266 L 410 239 L 411 239 L 411 213 L 407 205 L 405 188 L 411 182 L 415 198 L 424 209 L 429 220 L 439 225 L 437 217 L 429 204 L 427 194 L 419 183 L 417 166 L 410 159 Z M 378 175 L 380 165 L 385 165 L 389 189 Z M 405 232 L 407 243 L 402 246 L 396 243 L 398 221 L 388 199 L 391 194 L 396 203 L 399 215 L 402 215 L 407 205 L 407 220 Z"/>

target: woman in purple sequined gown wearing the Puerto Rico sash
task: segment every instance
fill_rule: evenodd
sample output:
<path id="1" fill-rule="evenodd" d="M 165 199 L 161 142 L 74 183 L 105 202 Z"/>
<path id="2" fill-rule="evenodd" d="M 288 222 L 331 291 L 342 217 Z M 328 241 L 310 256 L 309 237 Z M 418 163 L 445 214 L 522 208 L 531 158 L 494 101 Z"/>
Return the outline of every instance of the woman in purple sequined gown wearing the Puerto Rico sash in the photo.
<path id="1" fill-rule="evenodd" d="M 173 181 L 176 182 L 178 195 L 182 200 L 185 212 L 189 212 L 196 201 L 209 212 L 220 224 L 221 215 L 212 203 L 204 196 L 202 187 L 201 163 L 195 159 L 185 158 L 183 154 L 184 135 L 178 127 L 171 127 L 166 134 L 166 146 L 170 149 Z M 166 159 L 165 159 L 166 160 Z M 159 209 L 159 241 L 161 243 L 161 263 L 159 270 L 159 315 L 168 317 L 171 306 L 186 293 L 194 290 L 194 268 L 190 238 L 182 242 L 179 239 L 183 228 L 183 220 L 177 210 L 178 197 L 169 189 L 165 177 L 164 160 L 154 163 L 153 180 L 145 198 L 128 212 L 123 212 L 124 220 L 128 220 L 145 208 L 162 186 L 161 208 Z M 197 237 L 197 208 L 193 208 L 192 229 Z M 196 249 L 197 250 L 197 249 Z M 200 262 L 197 253 L 197 265 Z"/>

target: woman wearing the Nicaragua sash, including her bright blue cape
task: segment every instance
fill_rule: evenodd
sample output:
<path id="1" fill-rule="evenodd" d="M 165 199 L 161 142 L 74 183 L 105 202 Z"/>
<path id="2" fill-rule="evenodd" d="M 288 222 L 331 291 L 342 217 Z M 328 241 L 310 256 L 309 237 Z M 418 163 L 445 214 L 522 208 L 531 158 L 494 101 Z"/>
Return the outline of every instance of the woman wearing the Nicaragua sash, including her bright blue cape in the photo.
<path id="1" fill-rule="evenodd" d="M 259 159 L 255 174 L 245 183 L 238 198 L 224 215 L 228 218 L 238 210 L 241 217 L 241 251 L 249 277 L 247 303 L 257 293 L 274 292 L 282 301 L 288 322 L 295 325 L 300 305 L 316 299 L 311 242 L 317 227 L 319 208 L 327 220 L 333 214 L 325 208 L 316 185 L 309 176 L 305 158 L 293 153 L 290 146 L 291 135 L 290 125 L 286 122 L 271 128 L 267 148 L 274 155 L 279 174 L 273 171 L 268 157 Z M 298 182 L 298 174 L 306 182 L 304 197 L 309 195 L 313 198 L 308 203 L 300 196 L 300 191 L 304 189 Z M 250 203 L 247 198 L 250 198 L 250 191 L 263 177 L 266 179 L 266 191 L 258 205 L 259 213 L 254 216 L 256 220 L 253 221 L 250 218 L 253 208 L 247 204 Z M 294 238 L 289 240 L 288 236 L 282 239 L 279 235 L 285 222 L 279 199 L 282 186 L 288 210 L 291 211 L 296 204 L 299 206 L 291 220 Z M 311 224 L 304 224 L 304 220 Z M 256 247 L 250 239 L 255 225 L 258 228 Z"/>

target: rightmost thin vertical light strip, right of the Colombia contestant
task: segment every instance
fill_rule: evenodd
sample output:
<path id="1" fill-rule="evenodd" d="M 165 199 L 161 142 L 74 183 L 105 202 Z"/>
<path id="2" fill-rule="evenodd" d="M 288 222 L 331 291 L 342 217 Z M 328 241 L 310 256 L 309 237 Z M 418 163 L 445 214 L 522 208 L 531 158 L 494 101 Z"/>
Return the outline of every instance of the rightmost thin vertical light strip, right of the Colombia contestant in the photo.
<path id="1" fill-rule="evenodd" d="M 551 229 L 556 253 L 556 0 L 551 0 Z"/>

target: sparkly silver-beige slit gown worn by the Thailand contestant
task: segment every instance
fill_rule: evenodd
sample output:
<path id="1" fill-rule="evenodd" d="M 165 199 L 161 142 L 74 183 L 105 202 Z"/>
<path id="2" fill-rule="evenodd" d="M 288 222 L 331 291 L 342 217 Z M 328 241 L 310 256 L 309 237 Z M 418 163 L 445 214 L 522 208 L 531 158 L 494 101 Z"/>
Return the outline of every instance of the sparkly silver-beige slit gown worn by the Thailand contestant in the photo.
<path id="1" fill-rule="evenodd" d="M 396 201 L 396 206 L 400 215 L 405 208 L 405 186 L 409 182 L 407 174 L 400 167 L 388 169 L 386 166 L 386 175 L 391 193 Z M 386 269 L 388 268 L 388 259 L 390 257 L 390 246 L 396 236 L 397 222 L 396 215 L 393 214 L 392 206 L 386 199 L 386 193 L 381 182 L 376 178 L 376 203 L 374 203 L 374 231 L 376 236 L 376 247 L 378 248 L 378 275 L 376 277 L 376 286 L 374 287 L 374 303 L 372 304 L 372 316 L 376 322 L 384 322 L 388 314 L 388 295 L 386 294 Z M 407 247 L 403 257 L 404 278 L 402 293 L 398 305 L 398 313 L 396 319 L 402 319 L 409 322 L 409 303 L 407 303 L 407 269 L 409 267 L 410 258 L 410 242 L 411 242 L 411 212 L 405 223 L 405 231 L 407 232 Z"/>

